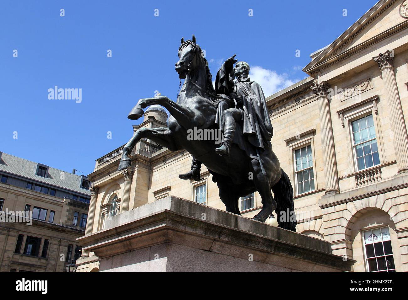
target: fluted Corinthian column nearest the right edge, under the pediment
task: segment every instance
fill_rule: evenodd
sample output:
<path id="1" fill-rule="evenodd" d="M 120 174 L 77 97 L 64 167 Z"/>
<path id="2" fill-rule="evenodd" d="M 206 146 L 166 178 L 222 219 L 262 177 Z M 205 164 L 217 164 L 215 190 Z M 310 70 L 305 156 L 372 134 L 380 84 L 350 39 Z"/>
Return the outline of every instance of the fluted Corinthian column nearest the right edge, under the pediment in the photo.
<path id="1" fill-rule="evenodd" d="M 398 173 L 401 173 L 408 171 L 408 137 L 397 88 L 397 80 L 395 80 L 393 54 L 393 51 L 387 50 L 385 53 L 380 53 L 379 56 L 373 57 L 373 60 L 380 67 L 382 79 L 384 80 Z"/>

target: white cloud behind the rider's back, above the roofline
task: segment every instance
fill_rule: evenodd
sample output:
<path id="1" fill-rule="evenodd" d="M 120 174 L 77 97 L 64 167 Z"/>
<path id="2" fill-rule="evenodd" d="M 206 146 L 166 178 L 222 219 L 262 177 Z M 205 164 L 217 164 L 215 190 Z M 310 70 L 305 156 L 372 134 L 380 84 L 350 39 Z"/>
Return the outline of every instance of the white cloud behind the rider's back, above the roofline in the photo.
<path id="1" fill-rule="evenodd" d="M 249 77 L 261 85 L 265 98 L 299 81 L 290 80 L 286 73 L 278 74 L 276 71 L 259 66 L 251 67 Z"/>

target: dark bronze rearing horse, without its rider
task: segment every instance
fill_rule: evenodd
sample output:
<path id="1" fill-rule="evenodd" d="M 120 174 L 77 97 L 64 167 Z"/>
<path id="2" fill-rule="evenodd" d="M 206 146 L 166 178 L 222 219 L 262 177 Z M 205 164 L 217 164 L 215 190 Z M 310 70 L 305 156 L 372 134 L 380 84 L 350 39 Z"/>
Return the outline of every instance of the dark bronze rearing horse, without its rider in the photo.
<path id="1" fill-rule="evenodd" d="M 137 120 L 143 115 L 142 109 L 159 104 L 171 114 L 167 122 L 168 127 L 138 129 L 124 146 L 118 169 L 130 167 L 132 161 L 128 155 L 142 138 L 153 140 L 171 151 L 185 149 L 200 160 L 213 175 L 226 211 L 241 215 L 238 208 L 239 198 L 258 191 L 262 198 L 262 209 L 253 219 L 265 222 L 273 210 L 276 210 L 279 227 L 296 231 L 293 188 L 273 151 L 260 156 L 265 176 L 259 161 L 246 155 L 236 144 L 232 144 L 229 156 L 219 156 L 215 153 L 218 147 L 215 141 L 188 140 L 189 129 L 218 129 L 215 125 L 216 107 L 213 101 L 215 90 L 208 62 L 202 56 L 194 36 L 192 40 L 181 40 L 178 56 L 175 70 L 179 78 L 185 81 L 178 94 L 177 103 L 166 96 L 140 99 L 128 116 L 131 120 Z M 236 134 L 242 135 L 242 132 Z"/>

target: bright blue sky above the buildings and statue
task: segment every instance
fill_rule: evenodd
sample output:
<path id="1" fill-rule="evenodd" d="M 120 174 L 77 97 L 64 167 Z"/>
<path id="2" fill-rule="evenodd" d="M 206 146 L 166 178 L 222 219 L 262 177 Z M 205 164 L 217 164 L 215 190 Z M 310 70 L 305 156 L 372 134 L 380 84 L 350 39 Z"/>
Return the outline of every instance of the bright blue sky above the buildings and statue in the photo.
<path id="1" fill-rule="evenodd" d="M 157 90 L 175 100 L 182 36 L 196 36 L 213 78 L 236 53 L 270 96 L 305 78 L 310 53 L 376 2 L 2 0 L 0 151 L 87 175 L 131 138 L 140 121 L 126 117 L 139 98 Z M 49 100 L 54 86 L 82 89 L 82 102 Z"/>

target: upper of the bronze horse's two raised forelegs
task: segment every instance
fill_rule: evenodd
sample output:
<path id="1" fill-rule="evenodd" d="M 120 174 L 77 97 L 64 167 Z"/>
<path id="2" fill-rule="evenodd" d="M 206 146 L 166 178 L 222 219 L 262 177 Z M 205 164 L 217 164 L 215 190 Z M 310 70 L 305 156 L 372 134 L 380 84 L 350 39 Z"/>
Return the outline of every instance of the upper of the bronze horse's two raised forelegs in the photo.
<path id="1" fill-rule="evenodd" d="M 193 120 L 195 119 L 195 114 L 190 108 L 175 103 L 166 96 L 156 96 L 154 98 L 140 99 L 139 102 L 137 102 L 137 105 L 132 109 L 128 118 L 131 120 L 137 120 L 143 115 L 142 109 L 153 104 L 159 104 L 162 107 L 166 108 L 173 116 L 173 118 L 177 120 L 180 126 L 184 128 L 190 128 L 191 122 L 193 122 Z"/>

